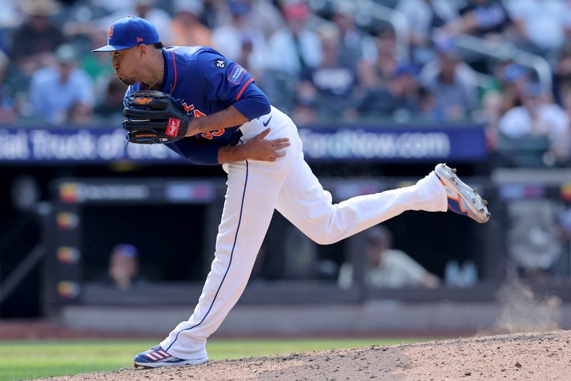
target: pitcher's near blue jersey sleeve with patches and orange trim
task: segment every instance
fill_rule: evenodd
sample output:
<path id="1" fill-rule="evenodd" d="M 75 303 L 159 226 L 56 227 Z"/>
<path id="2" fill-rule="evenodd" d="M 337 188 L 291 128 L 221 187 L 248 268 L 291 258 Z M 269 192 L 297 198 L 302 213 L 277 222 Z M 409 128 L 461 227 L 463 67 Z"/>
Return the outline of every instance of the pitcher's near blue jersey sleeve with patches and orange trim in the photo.
<path id="1" fill-rule="evenodd" d="M 198 76 L 208 97 L 233 105 L 249 120 L 270 112 L 270 101 L 254 85 L 253 76 L 240 64 L 215 51 L 202 51 L 196 59 Z"/>

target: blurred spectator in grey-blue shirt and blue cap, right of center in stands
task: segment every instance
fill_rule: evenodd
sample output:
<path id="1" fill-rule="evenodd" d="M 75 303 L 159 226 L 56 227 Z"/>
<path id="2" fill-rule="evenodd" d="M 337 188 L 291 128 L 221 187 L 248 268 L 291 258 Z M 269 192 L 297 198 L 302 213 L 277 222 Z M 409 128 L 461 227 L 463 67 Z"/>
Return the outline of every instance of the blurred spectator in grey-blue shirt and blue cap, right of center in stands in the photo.
<path id="1" fill-rule="evenodd" d="M 477 107 L 475 72 L 460 61 L 454 41 L 440 41 L 437 49 L 438 59 L 425 65 L 421 81 L 445 120 L 468 119 Z"/>

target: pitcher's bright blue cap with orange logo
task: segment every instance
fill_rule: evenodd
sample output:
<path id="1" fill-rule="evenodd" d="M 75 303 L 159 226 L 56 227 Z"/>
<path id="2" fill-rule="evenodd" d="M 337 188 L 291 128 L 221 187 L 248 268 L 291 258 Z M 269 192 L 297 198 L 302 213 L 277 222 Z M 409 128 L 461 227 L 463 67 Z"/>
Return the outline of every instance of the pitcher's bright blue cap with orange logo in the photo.
<path id="1" fill-rule="evenodd" d="M 158 31 L 153 24 L 137 16 L 115 21 L 107 31 L 107 45 L 92 51 L 116 51 L 141 44 L 158 44 Z"/>

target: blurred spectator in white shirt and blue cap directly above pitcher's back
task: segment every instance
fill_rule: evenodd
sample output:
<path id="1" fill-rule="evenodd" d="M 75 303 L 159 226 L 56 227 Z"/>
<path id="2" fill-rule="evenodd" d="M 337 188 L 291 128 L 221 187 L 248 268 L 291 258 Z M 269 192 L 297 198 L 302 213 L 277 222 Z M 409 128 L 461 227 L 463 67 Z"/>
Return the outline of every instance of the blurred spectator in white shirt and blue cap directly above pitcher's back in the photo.
<path id="1" fill-rule="evenodd" d="M 214 30 L 213 47 L 246 67 L 251 74 L 262 71 L 266 63 L 266 40 L 261 31 L 248 24 L 251 6 L 238 0 L 230 1 L 228 6 L 231 21 Z"/>

